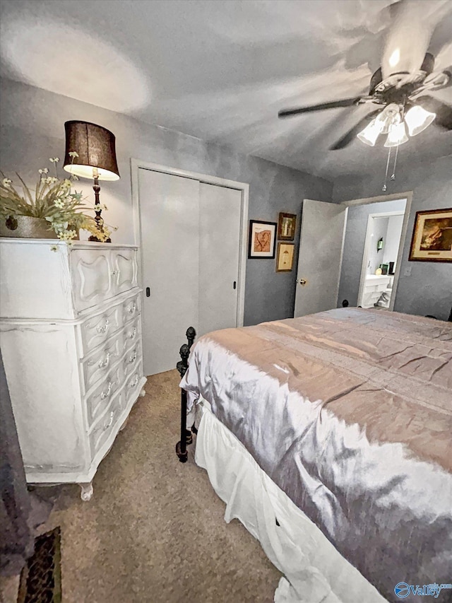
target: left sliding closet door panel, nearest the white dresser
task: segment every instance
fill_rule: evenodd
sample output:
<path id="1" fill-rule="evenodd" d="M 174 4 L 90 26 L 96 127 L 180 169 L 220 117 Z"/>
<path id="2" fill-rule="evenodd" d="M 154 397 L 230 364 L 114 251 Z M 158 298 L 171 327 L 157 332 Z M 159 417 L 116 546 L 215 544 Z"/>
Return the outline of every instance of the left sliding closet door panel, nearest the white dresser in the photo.
<path id="1" fill-rule="evenodd" d="M 187 327 L 198 329 L 198 180 L 138 170 L 144 374 L 176 366 Z"/>

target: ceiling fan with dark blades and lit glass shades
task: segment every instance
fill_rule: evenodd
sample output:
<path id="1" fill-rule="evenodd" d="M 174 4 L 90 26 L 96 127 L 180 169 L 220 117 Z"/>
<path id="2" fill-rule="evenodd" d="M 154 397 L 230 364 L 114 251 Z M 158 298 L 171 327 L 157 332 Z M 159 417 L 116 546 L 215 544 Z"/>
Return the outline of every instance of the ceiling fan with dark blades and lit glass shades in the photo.
<path id="1" fill-rule="evenodd" d="M 402 5 L 403 11 L 406 11 L 408 3 L 400 2 L 398 4 Z M 410 9 L 410 6 L 408 8 Z M 428 27 L 424 26 L 420 18 L 415 19 L 417 21 L 415 25 L 422 32 L 424 39 L 420 42 L 420 47 L 416 49 L 416 52 L 412 53 L 412 57 L 406 56 L 410 53 L 410 48 L 405 42 L 407 40 L 406 29 L 403 30 L 403 27 L 406 28 L 407 25 L 405 18 L 407 13 L 405 12 L 402 16 L 403 20 L 400 18 L 396 20 L 388 35 L 388 42 L 383 54 L 383 68 L 377 69 L 371 77 L 368 95 L 308 107 L 285 109 L 278 112 L 278 117 L 292 117 L 313 111 L 353 107 L 364 103 L 379 105 L 347 131 L 330 147 L 331 150 L 344 148 L 355 137 L 374 146 L 379 134 L 388 134 L 385 146 L 398 146 L 408 141 L 407 128 L 410 136 L 415 136 L 432 122 L 442 129 L 451 130 L 452 107 L 434 98 L 429 92 L 452 84 L 452 67 L 448 68 L 451 71 L 448 69 L 434 71 L 433 55 L 429 52 L 424 54 L 429 42 L 429 35 L 426 35 Z M 410 21 L 412 23 L 412 20 Z M 412 35 L 410 39 L 412 40 Z M 401 57 L 401 54 L 405 56 Z M 423 60 L 422 57 L 424 57 Z M 421 60 L 422 64 L 420 64 Z M 419 67 L 413 69 L 413 66 Z"/>

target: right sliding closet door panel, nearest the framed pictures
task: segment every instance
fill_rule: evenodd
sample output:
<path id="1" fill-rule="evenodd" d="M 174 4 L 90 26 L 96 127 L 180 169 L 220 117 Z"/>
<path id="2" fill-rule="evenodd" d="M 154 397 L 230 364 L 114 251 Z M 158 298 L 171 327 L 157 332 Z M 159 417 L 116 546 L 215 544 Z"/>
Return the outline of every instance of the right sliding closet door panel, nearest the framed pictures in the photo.
<path id="1" fill-rule="evenodd" d="M 237 327 L 242 192 L 201 182 L 198 334 Z"/>

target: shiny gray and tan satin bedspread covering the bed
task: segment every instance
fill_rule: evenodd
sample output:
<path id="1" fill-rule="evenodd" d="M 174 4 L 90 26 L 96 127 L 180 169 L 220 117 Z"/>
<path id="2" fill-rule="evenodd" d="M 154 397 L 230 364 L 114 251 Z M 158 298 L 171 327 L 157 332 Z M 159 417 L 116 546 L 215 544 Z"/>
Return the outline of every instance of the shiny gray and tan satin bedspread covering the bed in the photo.
<path id="1" fill-rule="evenodd" d="M 388 600 L 452 582 L 452 324 L 345 308 L 225 329 L 181 387 Z"/>

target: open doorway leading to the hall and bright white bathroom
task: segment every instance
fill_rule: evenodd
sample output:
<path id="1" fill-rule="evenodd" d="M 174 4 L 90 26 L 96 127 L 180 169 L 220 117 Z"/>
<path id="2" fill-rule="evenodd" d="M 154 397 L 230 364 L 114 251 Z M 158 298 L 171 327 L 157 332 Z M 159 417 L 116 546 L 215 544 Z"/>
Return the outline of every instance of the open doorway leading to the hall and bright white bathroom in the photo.
<path id="1" fill-rule="evenodd" d="M 346 201 L 338 307 L 393 310 L 411 194 Z"/>

